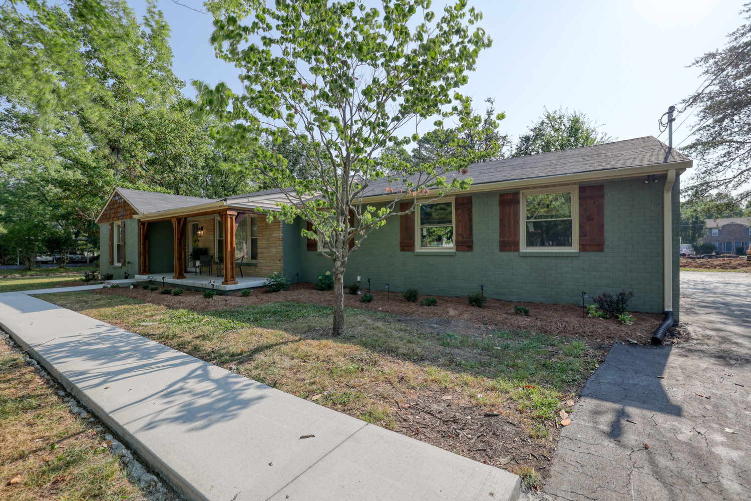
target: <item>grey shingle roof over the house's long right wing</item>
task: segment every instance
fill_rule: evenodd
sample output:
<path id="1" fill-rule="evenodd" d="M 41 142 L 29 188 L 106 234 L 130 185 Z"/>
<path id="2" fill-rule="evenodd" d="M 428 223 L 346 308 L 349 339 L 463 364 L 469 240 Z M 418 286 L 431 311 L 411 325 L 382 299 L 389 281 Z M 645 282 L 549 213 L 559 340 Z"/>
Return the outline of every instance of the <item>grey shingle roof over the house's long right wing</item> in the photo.
<path id="1" fill-rule="evenodd" d="M 483 183 L 531 180 L 537 177 L 609 171 L 686 160 L 690 158 L 675 149 L 668 155 L 668 146 L 665 143 L 657 140 L 656 137 L 647 136 L 537 155 L 485 161 L 470 165 L 466 175 L 456 172 L 446 174 L 446 182 L 451 183 L 454 177 L 459 179 L 471 177 L 472 185 L 475 186 Z M 388 180 L 373 181 L 370 183 L 367 195 L 385 195 L 385 189 L 389 186 L 397 189 L 398 184 L 388 183 Z"/>

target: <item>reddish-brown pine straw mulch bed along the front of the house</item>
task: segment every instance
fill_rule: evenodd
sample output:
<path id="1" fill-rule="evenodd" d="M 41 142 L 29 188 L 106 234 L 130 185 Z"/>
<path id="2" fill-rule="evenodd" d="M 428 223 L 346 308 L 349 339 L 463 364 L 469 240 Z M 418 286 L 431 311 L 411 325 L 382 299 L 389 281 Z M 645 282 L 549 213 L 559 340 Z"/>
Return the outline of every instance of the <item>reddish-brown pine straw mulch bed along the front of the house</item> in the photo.
<path id="1" fill-rule="evenodd" d="M 159 294 L 141 288 L 103 288 L 97 294 L 119 294 L 161 304 L 170 308 L 185 308 L 195 311 L 232 309 L 239 306 L 274 302 L 313 303 L 324 306 L 333 304 L 333 291 L 318 291 L 312 283 L 290 286 L 288 291 L 270 293 L 266 288 L 255 289 L 251 296 L 241 297 L 240 292 L 217 295 L 207 300 L 198 291 L 185 291 L 180 296 Z M 345 291 L 346 292 L 346 291 Z M 364 292 L 364 291 L 363 291 Z M 401 294 L 372 291 L 372 303 L 360 303 L 360 295 L 346 294 L 344 306 L 374 312 L 404 315 L 412 318 L 446 318 L 451 321 L 476 322 L 487 330 L 526 330 L 550 333 L 554 336 L 583 337 L 597 346 L 611 345 L 618 341 L 635 340 L 649 343 L 652 333 L 662 322 L 662 315 L 647 312 L 632 312 L 635 324 L 625 325 L 616 318 L 582 318 L 581 306 L 575 304 L 525 303 L 488 299 L 482 308 L 471 306 L 466 297 L 433 296 L 436 306 L 421 306 L 408 303 Z M 421 295 L 420 298 L 422 299 Z M 529 308 L 528 317 L 514 313 L 514 306 Z M 486 327 L 487 326 L 487 327 Z"/>

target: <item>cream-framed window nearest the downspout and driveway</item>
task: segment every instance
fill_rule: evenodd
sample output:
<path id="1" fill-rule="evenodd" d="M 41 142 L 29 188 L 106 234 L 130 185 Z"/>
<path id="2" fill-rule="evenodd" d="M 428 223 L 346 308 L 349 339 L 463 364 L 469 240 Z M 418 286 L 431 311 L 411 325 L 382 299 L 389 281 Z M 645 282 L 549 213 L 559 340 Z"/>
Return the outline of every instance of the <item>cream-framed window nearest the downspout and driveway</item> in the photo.
<path id="1" fill-rule="evenodd" d="M 522 192 L 523 249 L 576 249 L 574 233 L 578 191 Z"/>

